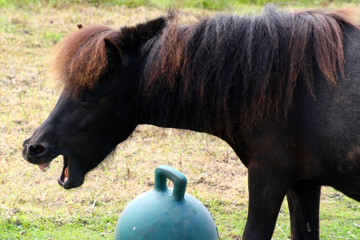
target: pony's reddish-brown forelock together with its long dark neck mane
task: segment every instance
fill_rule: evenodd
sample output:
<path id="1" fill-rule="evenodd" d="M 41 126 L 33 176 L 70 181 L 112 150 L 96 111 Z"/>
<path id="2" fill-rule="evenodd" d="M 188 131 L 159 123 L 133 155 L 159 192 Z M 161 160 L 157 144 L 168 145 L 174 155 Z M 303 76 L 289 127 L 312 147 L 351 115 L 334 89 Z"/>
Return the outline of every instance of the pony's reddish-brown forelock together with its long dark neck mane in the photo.
<path id="1" fill-rule="evenodd" d="M 257 15 L 201 16 L 190 24 L 169 11 L 118 31 L 85 26 L 57 46 L 51 69 L 73 94 L 92 89 L 108 70 L 104 38 L 111 39 L 143 61 L 140 104 L 152 109 L 152 122 L 194 119 L 197 128 L 230 136 L 270 115 L 286 116 L 298 80 L 313 94 L 315 66 L 336 85 L 343 75 L 341 26 L 359 28 L 350 15 L 349 9 L 284 12 L 270 4 Z"/>

